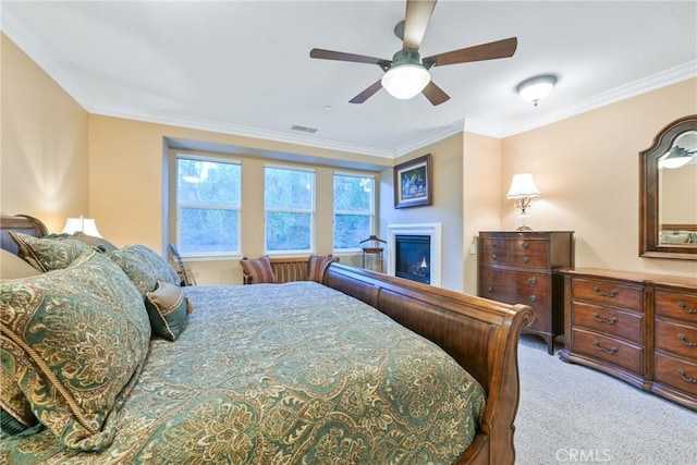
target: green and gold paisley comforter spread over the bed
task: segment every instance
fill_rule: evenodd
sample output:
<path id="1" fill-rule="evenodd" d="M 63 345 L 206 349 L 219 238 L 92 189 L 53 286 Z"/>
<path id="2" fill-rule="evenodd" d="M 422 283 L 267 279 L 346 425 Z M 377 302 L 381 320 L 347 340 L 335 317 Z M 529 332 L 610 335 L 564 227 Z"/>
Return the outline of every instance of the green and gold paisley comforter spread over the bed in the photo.
<path id="1" fill-rule="evenodd" d="M 152 340 L 101 453 L 48 430 L 2 437 L 11 464 L 453 463 L 481 387 L 429 341 L 314 282 L 186 287 L 175 342 Z"/>

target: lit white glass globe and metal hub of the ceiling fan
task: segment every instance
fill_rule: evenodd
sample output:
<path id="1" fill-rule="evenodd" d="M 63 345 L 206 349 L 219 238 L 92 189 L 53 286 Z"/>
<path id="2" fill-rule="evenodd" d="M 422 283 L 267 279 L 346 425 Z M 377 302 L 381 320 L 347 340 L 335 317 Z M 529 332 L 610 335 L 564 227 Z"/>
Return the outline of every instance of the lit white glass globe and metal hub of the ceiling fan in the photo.
<path id="1" fill-rule="evenodd" d="M 431 76 L 416 50 L 408 48 L 394 53 L 392 65 L 382 76 L 382 87 L 394 98 L 406 100 L 424 90 Z"/>

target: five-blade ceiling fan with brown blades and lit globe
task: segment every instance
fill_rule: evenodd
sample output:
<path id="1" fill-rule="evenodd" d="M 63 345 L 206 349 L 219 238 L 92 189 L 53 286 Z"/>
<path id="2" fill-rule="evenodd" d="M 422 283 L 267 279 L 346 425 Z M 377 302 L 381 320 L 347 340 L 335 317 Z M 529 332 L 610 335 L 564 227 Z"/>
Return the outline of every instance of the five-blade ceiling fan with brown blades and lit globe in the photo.
<path id="1" fill-rule="evenodd" d="M 395 35 L 403 40 L 403 47 L 394 53 L 392 60 L 318 48 L 311 49 L 309 56 L 322 60 L 377 64 L 384 71 L 382 78 L 351 99 L 352 103 L 363 103 L 384 87 L 396 98 L 407 99 L 423 93 L 433 106 L 440 105 L 450 99 L 450 96 L 430 81 L 428 70 L 445 64 L 513 57 L 518 39 L 510 37 L 421 59 L 418 49 L 421 46 L 436 2 L 437 0 L 407 0 L 404 21 L 394 28 Z"/>

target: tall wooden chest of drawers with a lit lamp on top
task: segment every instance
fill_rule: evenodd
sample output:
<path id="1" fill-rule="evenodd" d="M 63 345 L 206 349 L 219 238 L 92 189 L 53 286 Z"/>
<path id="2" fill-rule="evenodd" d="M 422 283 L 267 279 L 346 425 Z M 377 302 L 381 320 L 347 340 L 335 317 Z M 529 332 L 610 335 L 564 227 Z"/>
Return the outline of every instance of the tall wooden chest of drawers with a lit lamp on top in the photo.
<path id="1" fill-rule="evenodd" d="M 535 313 L 524 333 L 537 334 L 554 352 L 564 331 L 562 268 L 573 267 L 573 231 L 480 231 L 478 295 L 529 305 Z"/>

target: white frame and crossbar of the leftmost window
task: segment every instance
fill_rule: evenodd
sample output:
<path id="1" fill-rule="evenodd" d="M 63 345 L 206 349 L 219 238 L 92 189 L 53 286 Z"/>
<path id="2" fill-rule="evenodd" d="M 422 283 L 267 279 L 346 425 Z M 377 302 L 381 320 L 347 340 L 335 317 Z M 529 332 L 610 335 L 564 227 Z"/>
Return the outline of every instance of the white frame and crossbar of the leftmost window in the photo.
<path id="1" fill-rule="evenodd" d="M 235 164 L 240 167 L 240 204 L 236 206 L 230 206 L 228 204 L 180 204 L 179 203 L 179 160 L 194 160 L 194 161 L 208 161 L 211 163 L 224 163 L 224 164 Z M 242 188 L 243 182 L 243 163 L 242 160 L 227 158 L 227 157 L 217 157 L 213 155 L 201 155 L 201 154 L 192 154 L 182 150 L 178 150 L 174 152 L 174 182 L 173 185 L 173 200 L 174 200 L 174 243 L 180 250 L 180 256 L 182 259 L 195 259 L 195 260 L 216 260 L 216 259 L 230 259 L 230 258 L 239 258 L 242 257 L 242 196 L 244 191 Z M 181 247 L 181 219 L 182 219 L 182 208 L 195 208 L 195 209 L 209 209 L 209 210 L 234 210 L 237 212 L 237 249 L 236 250 L 217 250 L 217 252 L 185 252 L 182 250 Z"/>

